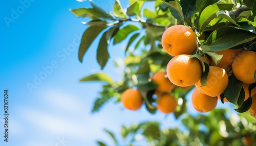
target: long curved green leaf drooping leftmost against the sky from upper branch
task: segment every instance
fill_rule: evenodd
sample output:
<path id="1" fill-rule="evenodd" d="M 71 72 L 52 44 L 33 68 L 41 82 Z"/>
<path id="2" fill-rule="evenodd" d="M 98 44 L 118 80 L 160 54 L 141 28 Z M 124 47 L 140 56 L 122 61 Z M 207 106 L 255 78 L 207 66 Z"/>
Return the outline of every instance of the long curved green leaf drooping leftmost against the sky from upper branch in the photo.
<path id="1" fill-rule="evenodd" d="M 78 58 L 80 62 L 82 62 L 82 58 L 84 54 L 87 52 L 91 43 L 98 36 L 98 34 L 105 28 L 106 25 L 94 25 L 89 27 L 86 31 L 84 31 L 78 51 Z"/>

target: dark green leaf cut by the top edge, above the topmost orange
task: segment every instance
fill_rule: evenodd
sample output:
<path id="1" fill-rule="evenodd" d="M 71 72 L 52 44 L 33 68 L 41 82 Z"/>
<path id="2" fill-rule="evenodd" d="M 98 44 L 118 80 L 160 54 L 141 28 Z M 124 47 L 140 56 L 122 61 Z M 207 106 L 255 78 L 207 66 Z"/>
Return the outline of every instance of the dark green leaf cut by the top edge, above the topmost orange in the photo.
<path id="1" fill-rule="evenodd" d="M 197 0 L 181 0 L 180 6 L 182 8 L 182 13 L 184 15 L 184 19 L 186 20 L 189 16 L 193 15 L 196 10 L 196 1 Z"/>

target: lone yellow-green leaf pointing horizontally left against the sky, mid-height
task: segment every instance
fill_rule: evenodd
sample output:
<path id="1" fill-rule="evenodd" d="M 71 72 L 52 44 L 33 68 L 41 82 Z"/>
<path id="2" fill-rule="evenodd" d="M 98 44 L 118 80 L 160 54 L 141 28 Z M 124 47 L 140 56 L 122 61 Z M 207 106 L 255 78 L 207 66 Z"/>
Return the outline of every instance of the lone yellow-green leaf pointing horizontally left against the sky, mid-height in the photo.
<path id="1" fill-rule="evenodd" d="M 114 84 L 114 81 L 112 80 L 112 78 L 106 74 L 104 74 L 103 72 L 98 72 L 89 76 L 86 76 L 82 79 L 79 80 L 80 82 L 88 82 L 88 81 L 104 81 L 107 82 L 109 84 Z"/>

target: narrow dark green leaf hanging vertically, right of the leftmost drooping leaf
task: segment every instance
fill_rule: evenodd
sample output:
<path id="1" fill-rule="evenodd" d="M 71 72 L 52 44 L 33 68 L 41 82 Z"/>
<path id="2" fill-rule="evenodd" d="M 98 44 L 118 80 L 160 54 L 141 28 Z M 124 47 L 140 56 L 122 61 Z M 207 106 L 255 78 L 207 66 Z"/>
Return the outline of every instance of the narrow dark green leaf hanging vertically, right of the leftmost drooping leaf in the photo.
<path id="1" fill-rule="evenodd" d="M 103 35 L 100 38 L 98 48 L 97 48 L 97 61 L 101 67 L 101 69 L 104 68 L 106 65 L 106 62 L 109 60 L 110 55 L 108 52 L 108 42 L 106 41 L 106 32 L 103 33 Z"/>

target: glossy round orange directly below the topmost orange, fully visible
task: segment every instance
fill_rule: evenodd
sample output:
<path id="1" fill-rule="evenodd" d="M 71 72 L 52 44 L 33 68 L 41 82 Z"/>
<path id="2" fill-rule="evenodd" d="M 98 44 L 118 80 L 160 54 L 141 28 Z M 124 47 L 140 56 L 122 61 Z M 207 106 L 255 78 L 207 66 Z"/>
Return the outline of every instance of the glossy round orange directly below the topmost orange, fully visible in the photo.
<path id="1" fill-rule="evenodd" d="M 172 58 L 166 67 L 167 77 L 173 84 L 186 87 L 194 85 L 200 80 L 203 67 L 197 58 L 189 58 L 183 54 Z"/>

